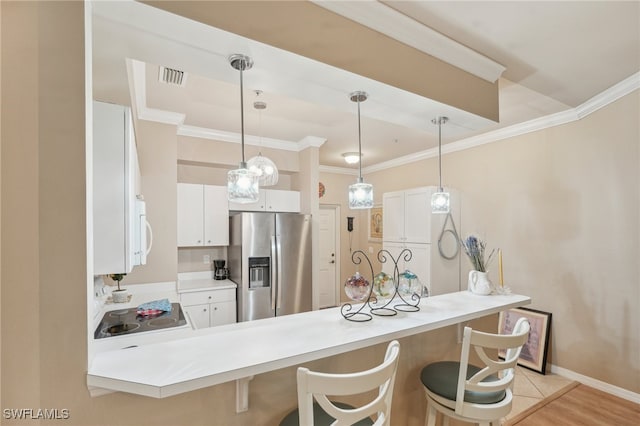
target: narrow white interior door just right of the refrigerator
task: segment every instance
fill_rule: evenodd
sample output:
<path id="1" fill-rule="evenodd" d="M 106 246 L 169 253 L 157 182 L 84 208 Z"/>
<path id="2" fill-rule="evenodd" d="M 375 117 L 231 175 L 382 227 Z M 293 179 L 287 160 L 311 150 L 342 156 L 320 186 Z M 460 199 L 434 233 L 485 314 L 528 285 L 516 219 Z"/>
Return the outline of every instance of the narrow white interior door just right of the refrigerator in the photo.
<path id="1" fill-rule="evenodd" d="M 339 256 L 336 250 L 336 207 L 320 206 L 320 308 L 337 306 L 340 302 L 337 271 L 339 271 Z"/>

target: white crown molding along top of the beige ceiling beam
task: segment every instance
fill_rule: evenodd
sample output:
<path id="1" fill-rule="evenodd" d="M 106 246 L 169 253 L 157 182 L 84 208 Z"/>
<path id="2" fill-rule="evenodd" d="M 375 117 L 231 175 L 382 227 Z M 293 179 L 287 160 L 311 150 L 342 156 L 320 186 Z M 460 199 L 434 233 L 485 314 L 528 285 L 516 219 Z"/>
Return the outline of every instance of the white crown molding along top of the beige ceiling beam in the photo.
<path id="1" fill-rule="evenodd" d="M 316 5 L 495 83 L 505 67 L 377 1 L 318 1 Z"/>

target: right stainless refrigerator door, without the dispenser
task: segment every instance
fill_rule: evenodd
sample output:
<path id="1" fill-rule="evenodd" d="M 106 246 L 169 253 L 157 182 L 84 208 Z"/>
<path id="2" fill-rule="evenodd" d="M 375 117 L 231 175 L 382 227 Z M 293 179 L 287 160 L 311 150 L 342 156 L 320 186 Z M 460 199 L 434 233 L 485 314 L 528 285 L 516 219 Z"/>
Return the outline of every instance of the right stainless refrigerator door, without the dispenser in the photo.
<path id="1" fill-rule="evenodd" d="M 310 311 L 311 216 L 276 214 L 276 316 Z"/>

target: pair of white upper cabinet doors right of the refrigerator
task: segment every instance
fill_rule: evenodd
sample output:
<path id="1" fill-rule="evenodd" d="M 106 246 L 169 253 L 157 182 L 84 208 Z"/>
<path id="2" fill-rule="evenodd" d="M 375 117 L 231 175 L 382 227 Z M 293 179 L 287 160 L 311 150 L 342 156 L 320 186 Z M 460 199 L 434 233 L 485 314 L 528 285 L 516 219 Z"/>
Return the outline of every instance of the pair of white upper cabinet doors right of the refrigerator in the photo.
<path id="1" fill-rule="evenodd" d="M 384 193 L 383 240 L 430 243 L 432 192 L 431 187 L 423 187 Z"/>

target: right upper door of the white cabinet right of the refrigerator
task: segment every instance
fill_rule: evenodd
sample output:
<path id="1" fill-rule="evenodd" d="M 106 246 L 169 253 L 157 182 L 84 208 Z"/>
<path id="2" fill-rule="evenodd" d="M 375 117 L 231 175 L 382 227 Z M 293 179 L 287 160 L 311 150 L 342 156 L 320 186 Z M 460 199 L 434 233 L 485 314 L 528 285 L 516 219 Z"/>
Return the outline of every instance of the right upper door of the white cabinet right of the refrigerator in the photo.
<path id="1" fill-rule="evenodd" d="M 404 241 L 431 241 L 431 191 L 416 188 L 404 192 Z"/>

